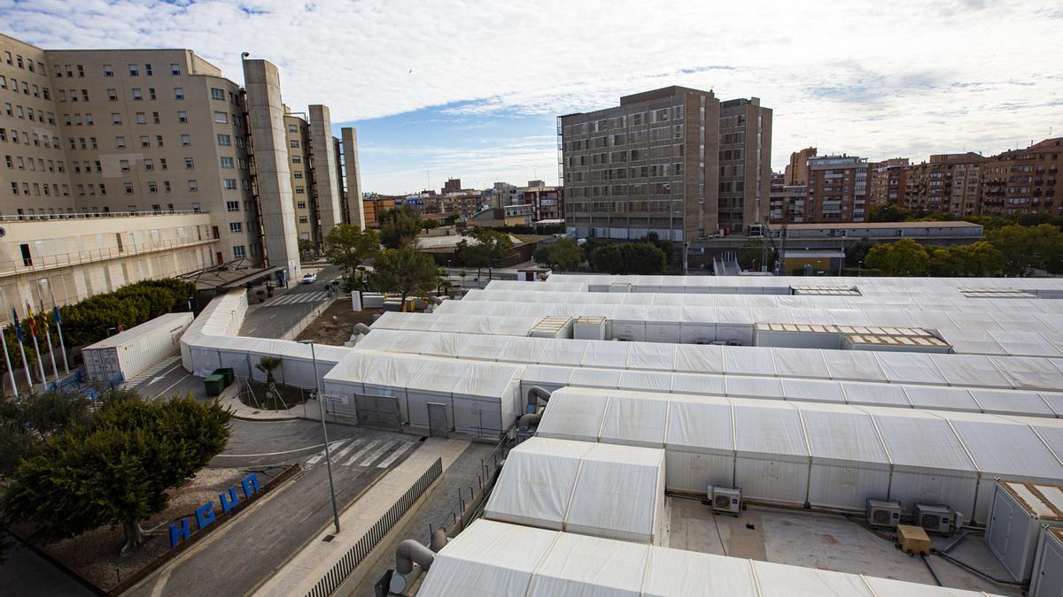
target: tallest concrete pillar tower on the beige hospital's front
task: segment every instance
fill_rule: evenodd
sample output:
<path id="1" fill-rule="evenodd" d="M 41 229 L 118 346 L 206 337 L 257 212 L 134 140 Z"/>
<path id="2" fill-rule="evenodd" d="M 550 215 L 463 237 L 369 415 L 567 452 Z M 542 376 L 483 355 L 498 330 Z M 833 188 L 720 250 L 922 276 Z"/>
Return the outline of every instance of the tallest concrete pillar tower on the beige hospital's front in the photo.
<path id="1" fill-rule="evenodd" d="M 254 139 L 254 167 L 263 239 L 271 266 L 283 266 L 289 280 L 300 276 L 298 232 L 288 167 L 281 75 L 263 59 L 243 61 L 248 125 Z"/>

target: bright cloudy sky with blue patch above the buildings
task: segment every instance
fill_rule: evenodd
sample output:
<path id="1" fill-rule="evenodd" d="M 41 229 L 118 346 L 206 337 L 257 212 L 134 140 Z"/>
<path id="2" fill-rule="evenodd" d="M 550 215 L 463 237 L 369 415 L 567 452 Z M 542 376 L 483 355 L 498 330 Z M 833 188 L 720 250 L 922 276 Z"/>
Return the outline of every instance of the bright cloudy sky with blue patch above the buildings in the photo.
<path id="1" fill-rule="evenodd" d="M 669 85 L 774 110 L 790 152 L 871 159 L 1063 135 L 1063 6 L 1041 0 L 0 0 L 48 49 L 189 48 L 358 129 L 362 190 L 557 182 L 556 117 Z"/>

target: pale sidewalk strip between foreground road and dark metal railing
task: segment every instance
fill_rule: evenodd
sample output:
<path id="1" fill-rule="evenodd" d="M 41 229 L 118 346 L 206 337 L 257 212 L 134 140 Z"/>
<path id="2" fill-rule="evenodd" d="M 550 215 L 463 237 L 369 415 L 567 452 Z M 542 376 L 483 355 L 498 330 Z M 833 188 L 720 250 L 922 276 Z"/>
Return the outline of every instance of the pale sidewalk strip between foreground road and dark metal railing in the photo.
<path id="1" fill-rule="evenodd" d="M 469 442 L 461 440 L 425 440 L 402 464 L 392 468 L 340 513 L 342 530 L 335 539 L 322 541 L 325 535 L 333 534 L 334 528 L 328 525 L 254 594 L 275 597 L 305 595 L 437 458 L 442 459 L 445 472 L 468 446 Z"/>

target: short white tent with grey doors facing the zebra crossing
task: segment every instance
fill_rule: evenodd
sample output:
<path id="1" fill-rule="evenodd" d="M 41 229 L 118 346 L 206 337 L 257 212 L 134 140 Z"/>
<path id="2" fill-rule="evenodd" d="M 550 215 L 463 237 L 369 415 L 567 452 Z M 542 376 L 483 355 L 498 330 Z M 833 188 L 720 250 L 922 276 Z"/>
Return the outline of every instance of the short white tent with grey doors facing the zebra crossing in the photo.
<path id="1" fill-rule="evenodd" d="M 349 351 L 324 376 L 323 391 L 340 398 L 340 414 L 355 414 L 356 394 L 399 398 L 410 425 L 428 426 L 428 404 L 445 405 L 452 429 L 501 433 L 523 411 L 523 368 L 455 359 Z"/>

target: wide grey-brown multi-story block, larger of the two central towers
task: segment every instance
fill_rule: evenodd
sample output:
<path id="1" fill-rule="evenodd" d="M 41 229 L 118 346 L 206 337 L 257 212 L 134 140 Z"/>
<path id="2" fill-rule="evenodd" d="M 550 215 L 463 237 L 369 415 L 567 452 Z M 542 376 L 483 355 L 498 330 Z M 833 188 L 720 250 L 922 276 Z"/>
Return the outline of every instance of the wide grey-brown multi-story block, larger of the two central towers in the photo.
<path id="1" fill-rule="evenodd" d="M 720 227 L 720 101 L 665 87 L 558 118 L 566 222 L 578 236 L 675 243 Z M 765 176 L 766 178 L 766 176 Z"/>

